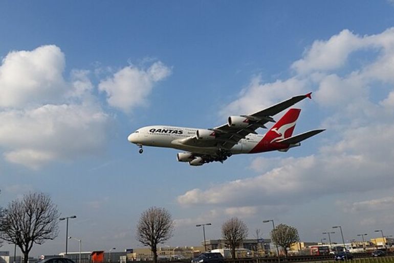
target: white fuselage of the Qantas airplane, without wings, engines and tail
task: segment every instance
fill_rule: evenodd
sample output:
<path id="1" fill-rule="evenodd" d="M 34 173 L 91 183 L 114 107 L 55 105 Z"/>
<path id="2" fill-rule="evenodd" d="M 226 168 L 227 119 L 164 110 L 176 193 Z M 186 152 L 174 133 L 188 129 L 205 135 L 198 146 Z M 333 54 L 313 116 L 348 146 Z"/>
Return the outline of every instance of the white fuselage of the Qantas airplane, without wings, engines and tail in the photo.
<path id="1" fill-rule="evenodd" d="M 130 134 L 128 140 L 141 146 L 174 148 L 201 154 L 216 153 L 218 147 L 210 141 L 203 141 L 201 145 L 195 147 L 186 146 L 181 143 L 183 139 L 195 136 L 197 130 L 197 128 L 162 125 L 147 126 Z M 263 137 L 264 135 L 260 134 L 249 134 L 245 139 L 239 140 L 238 144 L 230 149 L 230 152 L 232 154 L 249 153 Z"/>

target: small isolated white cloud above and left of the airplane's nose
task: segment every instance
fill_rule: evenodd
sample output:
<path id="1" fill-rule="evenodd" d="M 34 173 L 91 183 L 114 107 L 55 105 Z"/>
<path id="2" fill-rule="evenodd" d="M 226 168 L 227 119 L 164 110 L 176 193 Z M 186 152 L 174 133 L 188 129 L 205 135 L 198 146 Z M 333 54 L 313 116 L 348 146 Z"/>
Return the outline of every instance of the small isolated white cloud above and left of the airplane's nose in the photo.
<path id="1" fill-rule="evenodd" d="M 99 90 L 107 94 L 109 105 L 129 112 L 137 106 L 144 106 L 156 82 L 171 74 L 171 69 L 158 61 L 148 69 L 127 66 L 117 71 L 112 78 L 99 84 Z"/>

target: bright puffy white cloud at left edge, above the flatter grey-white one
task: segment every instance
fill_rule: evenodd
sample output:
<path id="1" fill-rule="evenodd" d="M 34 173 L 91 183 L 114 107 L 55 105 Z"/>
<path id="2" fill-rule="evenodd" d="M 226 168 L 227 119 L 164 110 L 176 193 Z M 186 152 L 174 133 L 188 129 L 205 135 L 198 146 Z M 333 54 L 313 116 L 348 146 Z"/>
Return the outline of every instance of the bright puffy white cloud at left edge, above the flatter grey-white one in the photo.
<path id="1" fill-rule="evenodd" d="M 64 54 L 55 45 L 10 52 L 0 66 L 0 107 L 58 102 L 66 88 L 64 65 Z"/>

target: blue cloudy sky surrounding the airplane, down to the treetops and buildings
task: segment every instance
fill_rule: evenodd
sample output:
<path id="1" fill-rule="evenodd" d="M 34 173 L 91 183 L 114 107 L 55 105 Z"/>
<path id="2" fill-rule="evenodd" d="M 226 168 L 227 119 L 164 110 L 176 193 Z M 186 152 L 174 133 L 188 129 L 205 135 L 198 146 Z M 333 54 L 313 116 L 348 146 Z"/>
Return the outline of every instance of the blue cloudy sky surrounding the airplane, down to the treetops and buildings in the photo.
<path id="1" fill-rule="evenodd" d="M 268 219 L 305 242 L 334 230 L 340 243 L 336 225 L 345 240 L 394 234 L 392 0 L 2 1 L 0 39 L 0 205 L 48 194 L 77 216 L 69 236 L 84 251 L 142 247 L 136 225 L 152 206 L 176 222 L 171 247 L 200 245 L 196 224 L 220 238 L 231 217 L 250 238 L 269 238 Z M 127 141 L 308 92 L 295 132 L 326 131 L 287 153 L 192 167 Z M 64 244 L 60 221 L 31 255 Z"/>

